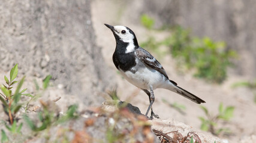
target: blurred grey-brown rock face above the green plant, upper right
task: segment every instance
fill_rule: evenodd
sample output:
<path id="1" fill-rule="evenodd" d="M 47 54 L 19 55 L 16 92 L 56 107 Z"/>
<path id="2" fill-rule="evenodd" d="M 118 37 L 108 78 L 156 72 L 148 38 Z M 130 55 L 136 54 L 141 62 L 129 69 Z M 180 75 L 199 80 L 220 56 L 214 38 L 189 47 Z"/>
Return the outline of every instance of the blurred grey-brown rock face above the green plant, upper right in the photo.
<path id="1" fill-rule="evenodd" d="M 256 29 L 254 1 L 144 1 L 146 12 L 155 17 L 156 23 L 180 24 L 194 35 L 209 36 L 227 42 L 228 48 L 239 52 L 235 73 L 255 78 Z M 249 70 L 248 70 L 249 69 Z"/>

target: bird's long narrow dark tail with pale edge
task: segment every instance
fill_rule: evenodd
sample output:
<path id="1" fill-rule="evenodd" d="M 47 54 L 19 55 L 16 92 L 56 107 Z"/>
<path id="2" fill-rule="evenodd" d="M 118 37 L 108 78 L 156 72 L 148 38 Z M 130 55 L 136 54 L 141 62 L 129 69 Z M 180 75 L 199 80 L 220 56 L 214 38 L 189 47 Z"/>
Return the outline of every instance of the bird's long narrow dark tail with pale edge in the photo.
<path id="1" fill-rule="evenodd" d="M 191 94 L 190 92 L 186 91 L 183 88 L 180 88 L 177 86 L 177 83 L 170 80 L 170 88 L 168 88 L 170 91 L 176 92 L 179 95 L 182 95 L 185 98 L 188 98 L 189 100 L 196 102 L 197 104 L 204 103 L 205 101 L 201 100 L 201 98 L 195 96 L 194 94 Z"/>

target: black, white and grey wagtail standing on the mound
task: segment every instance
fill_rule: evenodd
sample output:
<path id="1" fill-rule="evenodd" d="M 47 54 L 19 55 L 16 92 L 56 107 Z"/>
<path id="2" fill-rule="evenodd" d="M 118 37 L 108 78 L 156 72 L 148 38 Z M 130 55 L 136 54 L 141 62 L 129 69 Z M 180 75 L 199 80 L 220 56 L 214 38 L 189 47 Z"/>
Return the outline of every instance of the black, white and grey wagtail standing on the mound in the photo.
<path id="1" fill-rule="evenodd" d="M 153 112 L 153 102 L 155 95 L 153 90 L 164 88 L 176 92 L 189 100 L 201 104 L 201 100 L 194 94 L 177 86 L 177 83 L 170 80 L 162 65 L 148 51 L 138 45 L 135 33 L 126 26 L 111 26 L 105 24 L 115 36 L 116 48 L 113 53 L 113 63 L 122 76 L 129 83 L 142 89 L 149 97 L 149 107 L 146 111 L 146 117 L 151 109 L 149 119 L 153 117 L 159 119 L 159 116 Z"/>

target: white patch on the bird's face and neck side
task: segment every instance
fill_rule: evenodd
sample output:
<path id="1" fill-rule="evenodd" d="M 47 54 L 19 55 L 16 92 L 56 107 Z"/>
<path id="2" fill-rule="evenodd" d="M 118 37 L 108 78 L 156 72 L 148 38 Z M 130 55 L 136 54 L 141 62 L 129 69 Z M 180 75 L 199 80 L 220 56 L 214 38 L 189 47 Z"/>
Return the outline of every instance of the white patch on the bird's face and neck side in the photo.
<path id="1" fill-rule="evenodd" d="M 128 52 L 132 52 L 134 51 L 134 35 L 132 35 L 132 33 L 129 32 L 129 30 L 127 29 L 127 27 L 125 26 L 114 26 L 114 32 L 116 33 L 116 35 L 119 36 L 121 41 L 124 41 L 126 43 L 129 43 L 127 46 L 127 51 L 125 51 L 125 53 Z"/>

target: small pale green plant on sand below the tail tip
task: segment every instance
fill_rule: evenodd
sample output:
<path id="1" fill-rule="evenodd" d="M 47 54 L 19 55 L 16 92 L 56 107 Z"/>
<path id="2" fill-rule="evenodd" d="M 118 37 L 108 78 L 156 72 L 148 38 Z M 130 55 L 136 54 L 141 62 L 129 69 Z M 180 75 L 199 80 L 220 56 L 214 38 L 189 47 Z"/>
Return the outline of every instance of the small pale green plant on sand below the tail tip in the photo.
<path id="1" fill-rule="evenodd" d="M 201 106 L 201 109 L 206 114 L 206 118 L 199 117 L 201 120 L 201 130 L 210 131 L 213 135 L 219 135 L 221 132 L 228 133 L 229 130 L 227 128 L 219 128 L 216 129 L 218 122 L 222 121 L 229 121 L 231 117 L 233 117 L 234 107 L 228 106 L 224 108 L 223 104 L 219 104 L 219 113 L 215 116 L 209 113 L 206 107 Z"/>

